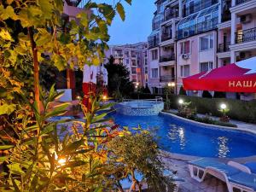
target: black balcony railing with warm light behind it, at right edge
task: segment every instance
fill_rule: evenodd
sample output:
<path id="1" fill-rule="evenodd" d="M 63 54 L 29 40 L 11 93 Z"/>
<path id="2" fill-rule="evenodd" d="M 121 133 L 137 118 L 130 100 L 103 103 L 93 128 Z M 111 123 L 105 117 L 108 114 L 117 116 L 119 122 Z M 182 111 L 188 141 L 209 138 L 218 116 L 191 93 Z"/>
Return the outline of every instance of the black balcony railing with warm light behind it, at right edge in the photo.
<path id="1" fill-rule="evenodd" d="M 252 29 L 236 32 L 236 44 L 242 44 L 256 40 L 256 27 Z"/>

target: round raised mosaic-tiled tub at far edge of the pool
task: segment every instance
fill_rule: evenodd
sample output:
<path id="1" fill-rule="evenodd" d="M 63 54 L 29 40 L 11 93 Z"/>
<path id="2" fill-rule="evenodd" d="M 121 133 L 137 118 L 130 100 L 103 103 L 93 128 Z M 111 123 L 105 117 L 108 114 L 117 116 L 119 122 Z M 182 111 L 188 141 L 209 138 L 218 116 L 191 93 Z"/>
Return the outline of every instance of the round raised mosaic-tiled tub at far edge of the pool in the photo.
<path id="1" fill-rule="evenodd" d="M 114 106 L 117 113 L 131 116 L 158 115 L 164 109 L 161 97 L 149 100 L 127 100 Z"/>

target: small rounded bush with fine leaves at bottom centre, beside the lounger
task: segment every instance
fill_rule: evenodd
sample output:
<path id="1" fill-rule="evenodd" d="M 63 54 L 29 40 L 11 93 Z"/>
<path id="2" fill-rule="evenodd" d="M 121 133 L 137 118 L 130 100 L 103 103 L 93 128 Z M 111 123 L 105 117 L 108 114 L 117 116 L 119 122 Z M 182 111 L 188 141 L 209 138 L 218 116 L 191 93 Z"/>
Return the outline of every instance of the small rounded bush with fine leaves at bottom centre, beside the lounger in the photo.
<path id="1" fill-rule="evenodd" d="M 119 167 L 114 175 L 116 186 L 123 191 L 119 185 L 119 180 L 131 177 L 131 189 L 141 190 L 142 183 L 137 180 L 136 172 L 143 174 L 143 180 L 148 183 L 152 191 L 163 191 L 169 186 L 171 191 L 172 177 L 163 177 L 164 166 L 159 160 L 159 150 L 154 142 L 154 136 L 148 131 L 136 129 L 134 134 L 125 134 L 123 137 L 115 137 L 108 148 L 113 152 L 113 165 Z M 124 174 L 125 173 L 125 174 Z"/>

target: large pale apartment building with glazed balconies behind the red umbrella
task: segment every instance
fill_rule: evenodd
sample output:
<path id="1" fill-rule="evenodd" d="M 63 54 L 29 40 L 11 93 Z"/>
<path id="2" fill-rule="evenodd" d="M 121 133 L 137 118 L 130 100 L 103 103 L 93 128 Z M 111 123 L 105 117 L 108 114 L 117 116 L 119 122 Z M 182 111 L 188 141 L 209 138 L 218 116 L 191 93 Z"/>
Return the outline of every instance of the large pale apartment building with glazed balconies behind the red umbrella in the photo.
<path id="1" fill-rule="evenodd" d="M 159 0 L 148 37 L 148 87 L 162 93 L 195 73 L 256 55 L 256 0 Z M 202 96 L 202 91 L 187 91 Z M 213 92 L 212 92 L 213 95 Z M 245 99 L 254 95 L 226 93 Z"/>

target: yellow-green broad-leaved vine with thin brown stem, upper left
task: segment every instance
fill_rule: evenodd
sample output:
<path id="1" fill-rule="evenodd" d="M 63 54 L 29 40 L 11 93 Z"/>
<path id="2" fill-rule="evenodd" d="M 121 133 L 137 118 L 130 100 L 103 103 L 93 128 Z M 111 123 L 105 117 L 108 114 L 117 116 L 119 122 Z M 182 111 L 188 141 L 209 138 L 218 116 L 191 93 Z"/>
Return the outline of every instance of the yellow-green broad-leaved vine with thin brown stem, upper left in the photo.
<path id="1" fill-rule="evenodd" d="M 131 4 L 130 0 L 125 2 Z M 0 65 L 32 67 L 38 108 L 40 62 L 51 63 L 59 70 L 81 68 L 84 63 L 99 65 L 108 48 L 108 26 L 116 12 L 125 19 L 121 1 L 113 5 L 88 1 L 73 20 L 63 11 L 61 0 L 0 3 Z"/>

